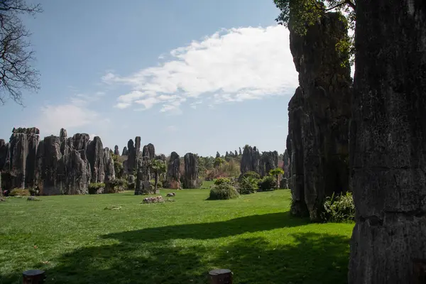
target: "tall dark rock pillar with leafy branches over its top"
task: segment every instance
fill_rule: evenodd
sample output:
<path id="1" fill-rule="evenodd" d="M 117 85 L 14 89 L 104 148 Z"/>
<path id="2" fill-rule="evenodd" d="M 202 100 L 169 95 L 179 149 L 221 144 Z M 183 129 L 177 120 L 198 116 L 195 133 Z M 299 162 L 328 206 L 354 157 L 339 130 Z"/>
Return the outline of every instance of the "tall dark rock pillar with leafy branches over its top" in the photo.
<path id="1" fill-rule="evenodd" d="M 288 107 L 291 212 L 317 221 L 325 197 L 349 190 L 351 76 L 336 48 L 347 28 L 339 13 L 326 13 L 306 35 L 289 28 L 300 84 Z"/>

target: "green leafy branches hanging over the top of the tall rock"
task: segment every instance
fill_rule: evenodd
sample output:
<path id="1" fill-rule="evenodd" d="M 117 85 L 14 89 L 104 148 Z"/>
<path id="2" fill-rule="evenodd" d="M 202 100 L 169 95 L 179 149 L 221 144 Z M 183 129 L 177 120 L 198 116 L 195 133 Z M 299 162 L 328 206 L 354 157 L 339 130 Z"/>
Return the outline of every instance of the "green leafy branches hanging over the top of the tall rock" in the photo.
<path id="1" fill-rule="evenodd" d="M 275 18 L 278 24 L 291 27 L 300 35 L 305 35 L 307 27 L 314 25 L 328 11 L 337 11 L 347 28 L 355 29 L 356 0 L 274 0 L 275 6 L 280 9 L 280 15 Z M 354 60 L 354 35 L 341 40 L 336 45 L 339 53 L 349 53 L 348 60 L 343 65 Z"/>

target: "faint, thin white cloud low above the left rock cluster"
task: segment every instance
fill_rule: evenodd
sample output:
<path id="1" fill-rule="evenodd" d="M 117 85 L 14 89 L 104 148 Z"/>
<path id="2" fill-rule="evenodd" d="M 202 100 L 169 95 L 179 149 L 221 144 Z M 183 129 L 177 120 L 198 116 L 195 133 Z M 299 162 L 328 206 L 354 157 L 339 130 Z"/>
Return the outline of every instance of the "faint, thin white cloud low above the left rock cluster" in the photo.
<path id="1" fill-rule="evenodd" d="M 48 104 L 40 109 L 40 117 L 36 125 L 43 135 L 59 135 L 61 128 L 72 130 L 89 124 L 108 124 L 96 111 L 89 109 L 89 104 L 96 102 L 104 94 L 76 94 L 66 104 Z M 93 138 L 94 136 L 90 136 Z"/>

